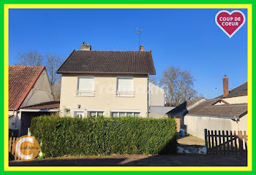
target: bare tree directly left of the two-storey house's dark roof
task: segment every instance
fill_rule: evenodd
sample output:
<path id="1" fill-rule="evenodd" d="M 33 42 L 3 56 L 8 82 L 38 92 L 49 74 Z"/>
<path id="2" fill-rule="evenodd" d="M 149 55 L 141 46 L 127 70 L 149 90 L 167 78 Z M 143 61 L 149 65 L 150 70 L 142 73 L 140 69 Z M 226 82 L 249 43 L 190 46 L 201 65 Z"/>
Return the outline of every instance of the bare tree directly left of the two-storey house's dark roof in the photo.
<path id="1" fill-rule="evenodd" d="M 50 85 L 53 87 L 55 82 L 61 77 L 59 74 L 56 74 L 56 71 L 59 69 L 59 66 L 61 66 L 62 60 L 59 55 L 53 53 L 46 53 L 45 58 Z"/>

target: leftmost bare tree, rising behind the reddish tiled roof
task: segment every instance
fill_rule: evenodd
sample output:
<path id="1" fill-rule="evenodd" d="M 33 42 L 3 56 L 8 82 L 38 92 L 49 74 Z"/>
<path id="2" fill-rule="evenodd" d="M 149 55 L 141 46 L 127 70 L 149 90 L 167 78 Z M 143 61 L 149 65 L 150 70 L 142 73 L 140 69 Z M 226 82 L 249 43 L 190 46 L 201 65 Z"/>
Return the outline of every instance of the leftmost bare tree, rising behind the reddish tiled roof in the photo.
<path id="1" fill-rule="evenodd" d="M 19 55 L 17 64 L 20 66 L 41 66 L 42 54 L 37 51 L 22 53 Z"/>

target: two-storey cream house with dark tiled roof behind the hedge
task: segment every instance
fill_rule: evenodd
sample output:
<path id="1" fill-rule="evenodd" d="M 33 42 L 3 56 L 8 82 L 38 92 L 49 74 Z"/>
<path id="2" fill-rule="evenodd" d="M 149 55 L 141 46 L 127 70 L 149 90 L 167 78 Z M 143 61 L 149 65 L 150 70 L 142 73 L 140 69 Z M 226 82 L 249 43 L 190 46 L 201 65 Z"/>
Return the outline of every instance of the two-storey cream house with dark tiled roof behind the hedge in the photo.
<path id="1" fill-rule="evenodd" d="M 148 117 L 151 51 L 93 51 L 82 44 L 61 65 L 60 115 Z"/>

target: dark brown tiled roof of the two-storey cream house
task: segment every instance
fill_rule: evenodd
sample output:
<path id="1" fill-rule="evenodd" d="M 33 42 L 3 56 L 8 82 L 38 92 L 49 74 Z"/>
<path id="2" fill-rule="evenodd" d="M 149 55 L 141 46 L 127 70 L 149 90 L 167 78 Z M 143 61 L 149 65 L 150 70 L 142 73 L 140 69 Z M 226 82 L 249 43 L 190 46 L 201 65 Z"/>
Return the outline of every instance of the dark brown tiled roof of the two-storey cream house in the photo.
<path id="1" fill-rule="evenodd" d="M 57 73 L 156 74 L 156 71 L 151 51 L 74 50 Z"/>

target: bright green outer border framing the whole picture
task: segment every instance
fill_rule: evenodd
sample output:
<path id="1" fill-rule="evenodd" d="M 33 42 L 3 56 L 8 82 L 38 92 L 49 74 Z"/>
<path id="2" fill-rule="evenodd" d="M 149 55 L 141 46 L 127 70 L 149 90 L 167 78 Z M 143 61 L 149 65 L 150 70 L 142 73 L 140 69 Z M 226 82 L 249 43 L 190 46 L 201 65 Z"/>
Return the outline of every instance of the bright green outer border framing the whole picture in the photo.
<path id="1" fill-rule="evenodd" d="M 100 1 L 81 1 L 81 0 L 46 0 L 46 1 L 33 1 L 33 0 L 4 0 L 0 1 L 0 13 L 1 13 L 1 27 L 0 27 L 0 34 L 1 34 L 1 47 L 0 47 L 0 54 L 1 54 L 1 59 L 0 59 L 0 77 L 1 77 L 1 106 L 3 106 L 1 109 L 4 109 L 4 88 L 7 88 L 7 85 L 4 85 L 4 4 L 252 4 L 252 90 L 255 87 L 255 82 L 253 80 L 255 70 L 253 69 L 255 65 L 255 52 L 256 51 L 256 30 L 255 30 L 255 25 L 256 25 L 256 2 L 253 0 L 185 0 L 185 1 L 168 1 L 168 0 L 160 0 L 160 1 L 146 1 L 146 0 L 140 0 L 140 1 L 135 1 L 135 0 L 123 0 L 123 1 L 117 1 L 117 0 L 100 0 Z M 255 94 L 252 91 L 252 125 L 255 125 L 255 118 L 253 117 L 254 114 L 254 99 L 255 99 Z M 81 174 L 81 173 L 86 173 L 86 174 L 256 174 L 255 171 L 255 129 L 252 127 L 252 171 L 4 171 L 4 110 L 1 110 L 1 120 L 0 120 L 0 174 Z"/>

